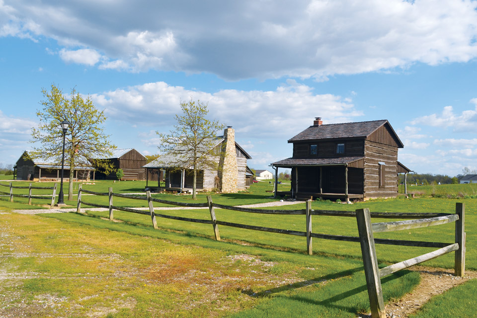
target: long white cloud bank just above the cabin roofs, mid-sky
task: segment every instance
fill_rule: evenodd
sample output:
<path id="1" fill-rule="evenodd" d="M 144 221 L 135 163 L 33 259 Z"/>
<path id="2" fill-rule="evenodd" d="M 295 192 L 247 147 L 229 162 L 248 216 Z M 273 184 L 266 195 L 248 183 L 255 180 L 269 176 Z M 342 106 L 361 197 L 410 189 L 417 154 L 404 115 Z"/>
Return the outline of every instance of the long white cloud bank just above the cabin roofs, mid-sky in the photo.
<path id="1" fill-rule="evenodd" d="M 315 94 L 313 88 L 288 80 L 273 91 L 224 89 L 215 93 L 187 90 L 165 82 L 146 83 L 93 94 L 108 117 L 157 127 L 173 125 L 180 101 L 201 100 L 209 104 L 209 117 L 232 125 L 242 138 L 256 134 L 267 138 L 291 138 L 313 124 L 348 122 L 363 115 L 351 100 L 332 94 Z M 249 137 L 246 137 L 249 136 Z"/>

